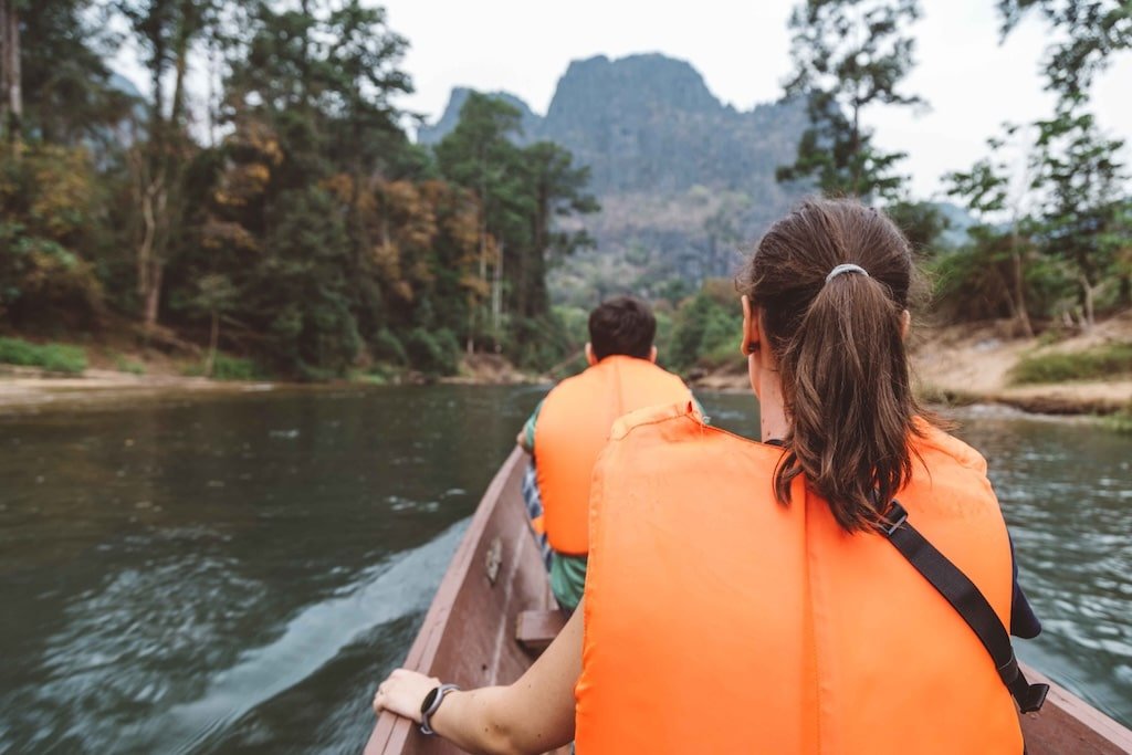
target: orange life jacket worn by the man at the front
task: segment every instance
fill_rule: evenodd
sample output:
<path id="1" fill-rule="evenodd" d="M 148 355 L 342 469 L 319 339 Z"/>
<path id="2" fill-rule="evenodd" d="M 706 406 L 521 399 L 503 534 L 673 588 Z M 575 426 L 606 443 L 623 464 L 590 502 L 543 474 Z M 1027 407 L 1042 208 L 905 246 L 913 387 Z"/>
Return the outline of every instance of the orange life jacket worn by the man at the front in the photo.
<path id="1" fill-rule="evenodd" d="M 590 475 L 614 421 L 654 404 L 685 403 L 680 378 L 646 359 L 606 357 L 547 395 L 534 426 L 535 471 L 550 547 L 589 550 Z"/>

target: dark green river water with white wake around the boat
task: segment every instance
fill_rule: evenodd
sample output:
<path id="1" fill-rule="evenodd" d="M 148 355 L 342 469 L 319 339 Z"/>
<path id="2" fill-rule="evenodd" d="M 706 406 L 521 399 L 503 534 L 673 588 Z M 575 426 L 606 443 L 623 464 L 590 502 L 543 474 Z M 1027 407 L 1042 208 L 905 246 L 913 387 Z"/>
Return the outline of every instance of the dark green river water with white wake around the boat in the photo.
<path id="1" fill-rule="evenodd" d="M 537 387 L 0 419 L 0 753 L 357 753 Z M 706 394 L 751 434 L 749 396 Z M 1045 633 L 1132 724 L 1132 438 L 970 415 Z"/>

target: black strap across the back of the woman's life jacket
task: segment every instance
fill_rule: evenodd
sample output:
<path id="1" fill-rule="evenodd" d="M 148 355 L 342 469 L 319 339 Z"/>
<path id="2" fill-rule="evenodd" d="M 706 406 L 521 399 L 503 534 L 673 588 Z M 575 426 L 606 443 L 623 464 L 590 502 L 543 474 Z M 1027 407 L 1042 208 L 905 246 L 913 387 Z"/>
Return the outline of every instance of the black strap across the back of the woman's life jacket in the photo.
<path id="1" fill-rule="evenodd" d="M 1014 658 L 1014 649 L 1010 644 L 1010 634 L 975 583 L 908 523 L 908 512 L 899 501 L 892 501 L 892 507 L 884 518 L 886 526 L 883 532 L 889 542 L 895 546 L 916 570 L 947 599 L 951 607 L 975 630 L 979 642 L 994 659 L 998 676 L 1010 689 L 1019 710 L 1023 713 L 1040 710 L 1041 704 L 1046 702 L 1049 685 L 1030 684 L 1026 680 L 1022 670 L 1018 668 L 1018 659 Z"/>

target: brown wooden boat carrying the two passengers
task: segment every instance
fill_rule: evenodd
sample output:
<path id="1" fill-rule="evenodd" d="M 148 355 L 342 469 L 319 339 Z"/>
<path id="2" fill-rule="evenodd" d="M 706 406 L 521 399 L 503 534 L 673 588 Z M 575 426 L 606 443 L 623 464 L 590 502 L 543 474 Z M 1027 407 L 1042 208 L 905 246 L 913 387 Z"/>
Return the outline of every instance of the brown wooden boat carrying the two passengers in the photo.
<path id="1" fill-rule="evenodd" d="M 524 454 L 515 449 L 488 486 L 409 650 L 405 668 L 465 689 L 507 684 L 523 674 L 561 628 L 561 614 L 550 594 L 522 503 L 525 463 Z M 1049 684 L 1041 711 L 1022 715 L 1030 755 L 1132 753 L 1132 731 L 1034 669 L 1024 671 L 1031 681 Z M 439 737 L 421 735 L 409 720 L 384 713 L 365 755 L 458 752 Z"/>

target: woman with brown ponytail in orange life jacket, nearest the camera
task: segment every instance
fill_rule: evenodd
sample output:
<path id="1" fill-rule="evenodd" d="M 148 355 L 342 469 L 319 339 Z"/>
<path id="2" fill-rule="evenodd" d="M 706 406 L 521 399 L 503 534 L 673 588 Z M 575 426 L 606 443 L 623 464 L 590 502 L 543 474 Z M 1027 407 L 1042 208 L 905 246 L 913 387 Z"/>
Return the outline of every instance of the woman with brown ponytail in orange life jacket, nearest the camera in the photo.
<path id="1" fill-rule="evenodd" d="M 738 278 L 763 441 L 691 405 L 620 419 L 555 643 L 505 687 L 395 671 L 375 711 L 487 753 L 1022 753 L 1040 689 L 986 636 L 1038 627 L 985 461 L 912 395 L 914 281 L 874 209 L 775 223 Z"/>

